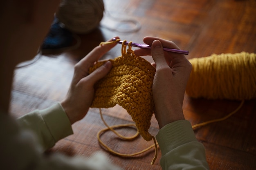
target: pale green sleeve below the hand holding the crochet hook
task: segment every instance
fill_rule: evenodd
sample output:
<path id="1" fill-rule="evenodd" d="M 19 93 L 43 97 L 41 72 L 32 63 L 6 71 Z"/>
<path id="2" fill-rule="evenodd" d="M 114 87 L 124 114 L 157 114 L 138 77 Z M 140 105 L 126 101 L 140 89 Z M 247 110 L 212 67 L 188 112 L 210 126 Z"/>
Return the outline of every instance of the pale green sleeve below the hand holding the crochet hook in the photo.
<path id="1" fill-rule="evenodd" d="M 167 124 L 156 139 L 162 152 L 163 170 L 209 170 L 204 146 L 195 138 L 189 121 Z"/>

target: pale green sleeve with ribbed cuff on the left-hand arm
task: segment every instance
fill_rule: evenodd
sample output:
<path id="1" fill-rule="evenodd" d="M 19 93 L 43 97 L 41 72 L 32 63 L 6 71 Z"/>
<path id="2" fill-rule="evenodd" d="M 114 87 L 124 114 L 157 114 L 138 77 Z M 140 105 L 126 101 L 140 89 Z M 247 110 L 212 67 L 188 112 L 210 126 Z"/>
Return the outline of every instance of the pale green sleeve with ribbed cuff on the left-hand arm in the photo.
<path id="1" fill-rule="evenodd" d="M 34 132 L 43 150 L 52 148 L 58 140 L 73 134 L 70 120 L 60 103 L 44 110 L 35 110 L 17 121 L 21 128 Z"/>

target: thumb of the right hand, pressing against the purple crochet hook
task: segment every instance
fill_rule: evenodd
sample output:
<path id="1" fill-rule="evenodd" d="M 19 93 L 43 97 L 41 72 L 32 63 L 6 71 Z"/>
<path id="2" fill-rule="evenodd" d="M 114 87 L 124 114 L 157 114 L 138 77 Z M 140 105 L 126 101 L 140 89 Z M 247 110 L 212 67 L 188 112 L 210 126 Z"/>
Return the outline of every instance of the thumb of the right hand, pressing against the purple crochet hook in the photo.
<path id="1" fill-rule="evenodd" d="M 155 40 L 151 45 L 151 55 L 155 61 L 156 67 L 168 66 L 164 57 L 164 49 L 159 40 Z"/>

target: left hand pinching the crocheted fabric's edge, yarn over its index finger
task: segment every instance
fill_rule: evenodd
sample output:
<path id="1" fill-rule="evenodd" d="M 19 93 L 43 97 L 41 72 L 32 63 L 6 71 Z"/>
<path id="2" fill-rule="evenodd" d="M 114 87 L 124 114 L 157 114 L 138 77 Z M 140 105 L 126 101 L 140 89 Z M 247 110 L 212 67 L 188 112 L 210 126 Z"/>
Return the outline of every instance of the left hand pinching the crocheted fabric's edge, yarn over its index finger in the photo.
<path id="1" fill-rule="evenodd" d="M 116 39 L 119 38 L 116 37 Z M 70 89 L 66 98 L 61 102 L 71 124 L 85 117 L 94 97 L 94 84 L 107 75 L 112 67 L 112 63 L 106 62 L 90 75 L 88 74 L 89 68 L 115 45 L 105 44 L 97 46 L 75 65 Z"/>

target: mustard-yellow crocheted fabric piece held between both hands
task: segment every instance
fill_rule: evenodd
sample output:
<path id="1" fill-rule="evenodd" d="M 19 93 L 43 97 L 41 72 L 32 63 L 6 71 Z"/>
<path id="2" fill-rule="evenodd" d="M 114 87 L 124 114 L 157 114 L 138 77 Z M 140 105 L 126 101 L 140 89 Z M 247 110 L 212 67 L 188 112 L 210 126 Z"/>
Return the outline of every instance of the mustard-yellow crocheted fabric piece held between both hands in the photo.
<path id="1" fill-rule="evenodd" d="M 136 56 L 130 45 L 127 51 L 126 47 L 123 43 L 122 56 L 109 60 L 112 62 L 112 69 L 95 84 L 91 107 L 110 108 L 119 104 L 131 115 L 140 135 L 150 141 L 152 136 L 148 129 L 154 112 L 152 84 L 155 67 Z M 89 73 L 105 62 L 97 62 L 89 69 Z"/>

